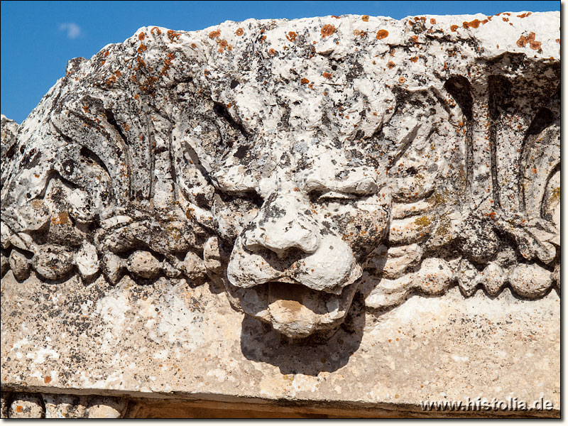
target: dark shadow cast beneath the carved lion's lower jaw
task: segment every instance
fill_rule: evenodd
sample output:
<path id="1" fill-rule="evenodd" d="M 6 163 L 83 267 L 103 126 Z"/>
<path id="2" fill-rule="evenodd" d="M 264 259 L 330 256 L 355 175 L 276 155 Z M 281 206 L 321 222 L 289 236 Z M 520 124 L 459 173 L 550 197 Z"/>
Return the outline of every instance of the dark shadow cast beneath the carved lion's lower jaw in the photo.
<path id="1" fill-rule="evenodd" d="M 359 349 L 364 327 L 364 299 L 361 293 L 356 293 L 343 324 L 305 339 L 289 339 L 270 324 L 245 315 L 241 351 L 246 359 L 277 366 L 282 374 L 317 376 L 322 371 L 337 371 L 349 362 L 349 357 Z"/>

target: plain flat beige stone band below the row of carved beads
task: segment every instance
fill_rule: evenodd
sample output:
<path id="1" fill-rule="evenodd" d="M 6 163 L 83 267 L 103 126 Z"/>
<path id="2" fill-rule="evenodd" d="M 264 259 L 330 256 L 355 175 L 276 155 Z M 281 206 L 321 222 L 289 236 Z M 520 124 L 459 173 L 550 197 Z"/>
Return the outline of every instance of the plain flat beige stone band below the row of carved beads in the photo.
<path id="1" fill-rule="evenodd" d="M 148 398 L 141 413 L 162 413 L 159 407 L 173 398 L 167 406 L 179 403 L 175 410 L 187 415 L 198 415 L 200 403 L 191 401 L 197 399 L 226 413 L 236 409 L 230 404 L 246 402 L 255 412 L 269 406 L 350 416 L 356 407 L 369 417 L 432 417 L 420 410 L 421 400 L 480 395 L 530 402 L 543 396 L 554 409 L 531 415 L 559 413 L 556 290 L 540 300 L 522 300 L 508 289 L 497 297 L 479 290 L 468 299 L 457 287 L 442 297 L 415 295 L 381 317 L 350 318 L 350 329 L 318 347 L 244 317 L 208 284 L 164 280 L 148 287 L 125 277 L 105 289 L 71 278 L 58 288 L 54 297 L 33 276 L 18 283 L 8 273 L 2 280 L 3 390 Z M 165 303 L 168 295 L 183 306 Z M 195 300 L 208 309 L 178 319 L 168 334 L 172 325 L 165 324 L 182 308 L 191 312 Z"/>

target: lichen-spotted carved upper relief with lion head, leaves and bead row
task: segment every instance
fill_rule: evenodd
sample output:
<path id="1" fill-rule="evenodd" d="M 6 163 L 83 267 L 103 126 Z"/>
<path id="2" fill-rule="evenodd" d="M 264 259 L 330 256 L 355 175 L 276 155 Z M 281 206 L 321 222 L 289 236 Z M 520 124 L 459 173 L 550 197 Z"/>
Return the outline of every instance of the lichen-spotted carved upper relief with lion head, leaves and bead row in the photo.
<path id="1" fill-rule="evenodd" d="M 559 288 L 559 44 L 539 13 L 457 18 L 148 27 L 71 60 L 2 118 L 2 275 L 209 280 L 289 337 L 358 292 Z"/>

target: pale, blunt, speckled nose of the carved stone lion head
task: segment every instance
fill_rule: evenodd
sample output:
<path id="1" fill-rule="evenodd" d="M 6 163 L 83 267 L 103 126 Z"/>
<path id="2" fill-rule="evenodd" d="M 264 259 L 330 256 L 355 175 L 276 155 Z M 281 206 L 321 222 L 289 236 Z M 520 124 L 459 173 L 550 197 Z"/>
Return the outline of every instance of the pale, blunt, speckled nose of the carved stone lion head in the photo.
<path id="1" fill-rule="evenodd" d="M 244 246 L 263 247 L 278 256 L 289 249 L 314 253 L 320 239 L 309 206 L 295 195 L 273 195 L 244 233 Z"/>

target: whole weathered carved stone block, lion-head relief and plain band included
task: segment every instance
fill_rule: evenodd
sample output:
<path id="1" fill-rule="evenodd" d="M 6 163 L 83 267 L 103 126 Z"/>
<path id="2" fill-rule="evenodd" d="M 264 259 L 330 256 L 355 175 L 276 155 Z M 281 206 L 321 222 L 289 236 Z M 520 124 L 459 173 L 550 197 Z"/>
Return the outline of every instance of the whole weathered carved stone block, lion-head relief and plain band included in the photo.
<path id="1" fill-rule="evenodd" d="M 2 389 L 559 413 L 557 28 L 247 20 L 71 60 L 2 116 Z"/>

